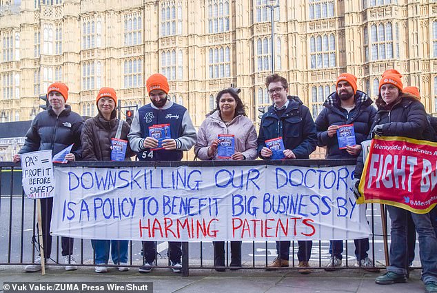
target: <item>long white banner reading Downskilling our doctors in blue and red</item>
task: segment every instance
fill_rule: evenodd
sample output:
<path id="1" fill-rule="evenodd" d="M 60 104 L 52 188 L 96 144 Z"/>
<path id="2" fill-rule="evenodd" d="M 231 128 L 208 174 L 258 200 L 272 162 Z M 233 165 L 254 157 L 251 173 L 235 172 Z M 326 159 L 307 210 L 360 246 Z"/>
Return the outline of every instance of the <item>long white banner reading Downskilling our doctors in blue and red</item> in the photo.
<path id="1" fill-rule="evenodd" d="M 55 168 L 52 234 L 163 241 L 360 239 L 354 166 Z"/>

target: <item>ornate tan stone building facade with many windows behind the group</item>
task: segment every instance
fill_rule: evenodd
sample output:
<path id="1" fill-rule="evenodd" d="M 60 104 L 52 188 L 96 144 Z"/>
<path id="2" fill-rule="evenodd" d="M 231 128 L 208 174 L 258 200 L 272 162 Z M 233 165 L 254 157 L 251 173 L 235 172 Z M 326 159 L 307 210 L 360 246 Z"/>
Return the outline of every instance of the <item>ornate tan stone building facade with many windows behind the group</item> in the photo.
<path id="1" fill-rule="evenodd" d="M 96 114 L 103 86 L 115 88 L 123 106 L 143 105 L 155 72 L 167 76 L 171 99 L 196 126 L 231 85 L 258 121 L 270 104 L 263 82 L 272 59 L 314 117 L 339 73 L 355 74 L 374 99 L 389 68 L 418 86 L 437 114 L 437 1 L 278 4 L 272 54 L 265 0 L 0 0 L 0 121 L 32 119 L 53 81 L 68 84 L 68 103 L 82 115 Z"/>

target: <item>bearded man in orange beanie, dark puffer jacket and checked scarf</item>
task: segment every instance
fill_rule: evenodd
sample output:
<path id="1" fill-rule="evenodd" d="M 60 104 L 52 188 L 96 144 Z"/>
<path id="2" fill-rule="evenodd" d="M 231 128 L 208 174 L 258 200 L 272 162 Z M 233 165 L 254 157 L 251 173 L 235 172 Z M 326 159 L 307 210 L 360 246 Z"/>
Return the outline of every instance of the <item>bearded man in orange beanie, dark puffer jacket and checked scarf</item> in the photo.
<path id="1" fill-rule="evenodd" d="M 318 146 L 326 147 L 326 159 L 356 159 L 361 152 L 360 143 L 367 139 L 374 121 L 376 109 L 367 94 L 357 90 L 356 77 L 353 74 L 340 74 L 336 82 L 336 92 L 327 97 L 323 110 L 316 119 Z M 337 132 L 352 125 L 355 144 L 341 145 Z M 379 272 L 369 258 L 369 239 L 354 239 L 357 265 L 365 270 Z M 342 265 L 343 241 L 332 240 L 329 245 L 331 259 L 325 270 L 336 270 Z"/>

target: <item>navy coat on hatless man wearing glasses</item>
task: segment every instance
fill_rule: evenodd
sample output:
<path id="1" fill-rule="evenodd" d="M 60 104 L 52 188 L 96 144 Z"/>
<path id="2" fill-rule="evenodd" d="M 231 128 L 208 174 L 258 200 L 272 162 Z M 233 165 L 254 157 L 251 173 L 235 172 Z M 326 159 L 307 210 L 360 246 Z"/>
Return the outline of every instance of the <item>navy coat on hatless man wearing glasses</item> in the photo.
<path id="1" fill-rule="evenodd" d="M 289 104 L 281 117 L 278 117 L 274 105 L 271 105 L 261 118 L 258 134 L 258 155 L 267 139 L 282 137 L 284 148 L 292 150 L 296 159 L 309 159 L 309 154 L 316 150 L 316 125 L 308 108 L 296 96 L 288 97 Z"/>

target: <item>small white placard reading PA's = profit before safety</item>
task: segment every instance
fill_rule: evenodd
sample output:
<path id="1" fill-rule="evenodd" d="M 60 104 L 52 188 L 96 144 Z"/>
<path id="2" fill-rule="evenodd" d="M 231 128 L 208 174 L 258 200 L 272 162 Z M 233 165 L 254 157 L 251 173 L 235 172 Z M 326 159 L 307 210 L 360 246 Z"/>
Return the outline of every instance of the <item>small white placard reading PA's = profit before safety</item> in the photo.
<path id="1" fill-rule="evenodd" d="M 24 194 L 29 199 L 44 199 L 54 195 L 52 150 L 21 154 Z"/>

